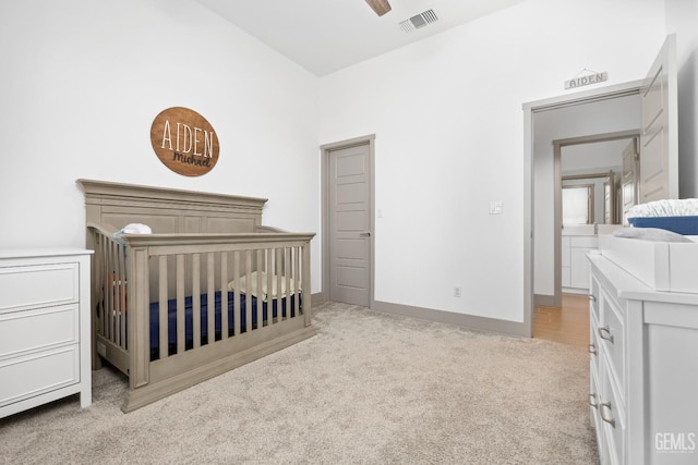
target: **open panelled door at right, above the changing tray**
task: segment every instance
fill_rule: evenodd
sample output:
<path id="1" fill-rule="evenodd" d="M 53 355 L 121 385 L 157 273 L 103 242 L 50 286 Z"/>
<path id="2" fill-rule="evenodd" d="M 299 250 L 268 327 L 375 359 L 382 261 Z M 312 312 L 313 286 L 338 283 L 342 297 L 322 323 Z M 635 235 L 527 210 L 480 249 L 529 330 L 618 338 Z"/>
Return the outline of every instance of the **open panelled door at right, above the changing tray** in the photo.
<path id="1" fill-rule="evenodd" d="M 666 37 L 640 89 L 640 203 L 678 198 L 676 36 Z"/>

